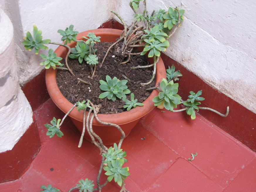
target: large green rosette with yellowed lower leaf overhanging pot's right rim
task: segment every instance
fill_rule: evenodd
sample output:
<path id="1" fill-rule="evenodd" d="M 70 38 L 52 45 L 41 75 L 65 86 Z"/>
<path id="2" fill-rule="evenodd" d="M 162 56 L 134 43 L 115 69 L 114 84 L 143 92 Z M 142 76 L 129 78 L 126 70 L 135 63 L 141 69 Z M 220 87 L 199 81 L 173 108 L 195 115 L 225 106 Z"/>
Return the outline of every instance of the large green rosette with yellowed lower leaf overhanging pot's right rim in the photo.
<path id="1" fill-rule="evenodd" d="M 173 108 L 177 107 L 177 104 L 181 103 L 181 96 L 177 94 L 179 84 L 173 83 L 173 80 L 168 83 L 166 79 L 162 79 L 160 87 L 162 92 L 153 98 L 153 102 L 155 102 L 154 105 L 157 106 L 157 108 L 166 108 L 172 111 Z"/>

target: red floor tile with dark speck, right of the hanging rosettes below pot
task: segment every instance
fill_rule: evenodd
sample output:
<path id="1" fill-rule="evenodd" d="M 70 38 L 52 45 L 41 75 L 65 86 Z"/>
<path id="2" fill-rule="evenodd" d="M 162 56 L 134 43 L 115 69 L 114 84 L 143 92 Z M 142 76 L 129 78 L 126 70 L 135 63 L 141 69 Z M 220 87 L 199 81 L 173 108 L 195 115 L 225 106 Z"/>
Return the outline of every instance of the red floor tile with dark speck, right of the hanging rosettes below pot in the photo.
<path id="1" fill-rule="evenodd" d="M 145 140 L 142 140 L 142 138 Z M 124 140 L 123 150 L 127 152 L 130 176 L 143 191 L 154 183 L 179 157 L 160 142 L 141 123 Z"/>

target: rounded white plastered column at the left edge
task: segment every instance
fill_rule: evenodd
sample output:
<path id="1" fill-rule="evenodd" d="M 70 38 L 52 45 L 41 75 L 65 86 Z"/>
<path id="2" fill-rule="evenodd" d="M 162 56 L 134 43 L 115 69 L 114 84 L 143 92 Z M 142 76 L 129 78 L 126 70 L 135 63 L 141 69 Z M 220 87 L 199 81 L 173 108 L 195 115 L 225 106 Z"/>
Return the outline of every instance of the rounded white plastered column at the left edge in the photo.
<path id="1" fill-rule="evenodd" d="M 33 122 L 16 72 L 13 26 L 0 8 L 0 152 L 11 150 Z"/>

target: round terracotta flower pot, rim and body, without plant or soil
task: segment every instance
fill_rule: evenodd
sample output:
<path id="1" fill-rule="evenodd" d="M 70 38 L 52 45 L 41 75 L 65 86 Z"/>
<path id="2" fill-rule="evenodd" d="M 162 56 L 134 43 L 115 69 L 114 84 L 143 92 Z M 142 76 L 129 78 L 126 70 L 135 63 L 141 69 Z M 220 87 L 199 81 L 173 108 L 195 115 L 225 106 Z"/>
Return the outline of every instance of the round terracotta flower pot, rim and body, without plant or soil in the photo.
<path id="1" fill-rule="evenodd" d="M 117 29 L 95 29 L 88 30 L 77 35 L 77 40 L 82 39 L 82 36 L 86 36 L 88 33 L 94 33 L 96 36 L 101 37 L 101 42 L 112 42 L 115 41 L 121 34 L 121 30 Z M 76 42 L 72 42 L 68 44 L 70 47 L 75 47 Z M 63 46 L 59 46 L 55 52 L 58 57 L 65 58 L 67 54 L 67 49 Z M 47 90 L 52 98 L 53 102 L 60 108 L 61 111 L 67 113 L 70 108 L 72 108 L 73 104 L 70 103 L 60 92 L 60 89 L 57 86 L 56 82 L 56 73 L 57 70 L 52 68 L 46 70 L 46 86 Z M 158 86 L 162 80 L 162 78 L 166 78 L 165 66 L 162 59 L 159 59 L 157 63 L 156 69 L 156 86 Z M 137 106 L 136 108 L 131 109 L 130 111 L 125 111 L 123 113 L 116 114 L 98 114 L 99 119 L 105 122 L 111 122 L 118 124 L 125 135 L 127 136 L 133 127 L 138 123 L 139 119 L 150 112 L 155 106 L 152 99 L 158 95 L 157 90 L 153 90 L 150 96 L 143 102 L 144 106 Z M 82 132 L 83 128 L 83 113 L 84 110 L 80 112 L 74 108 L 69 116 L 73 123 L 77 126 L 80 132 Z M 114 142 L 119 142 L 121 133 L 115 128 L 111 126 L 105 126 L 96 121 L 93 121 L 93 130 L 99 135 L 104 143 L 104 145 L 112 145 Z M 89 134 L 86 132 L 84 138 L 91 142 L 91 138 Z"/>

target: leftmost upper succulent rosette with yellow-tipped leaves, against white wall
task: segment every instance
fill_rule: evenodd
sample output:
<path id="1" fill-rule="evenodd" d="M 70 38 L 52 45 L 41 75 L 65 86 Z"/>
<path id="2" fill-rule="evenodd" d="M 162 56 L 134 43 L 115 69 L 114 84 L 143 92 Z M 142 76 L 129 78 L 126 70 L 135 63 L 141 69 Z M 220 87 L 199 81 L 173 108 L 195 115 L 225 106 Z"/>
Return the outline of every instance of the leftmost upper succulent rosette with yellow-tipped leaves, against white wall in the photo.
<path id="1" fill-rule="evenodd" d="M 42 31 L 38 30 L 38 28 L 34 25 L 33 27 L 33 35 L 34 38 L 32 37 L 31 33 L 28 31 L 27 32 L 27 36 L 24 37 L 24 41 L 22 42 L 24 44 L 24 47 L 26 50 L 33 50 L 33 48 L 35 48 L 35 54 L 39 53 L 40 49 L 48 49 L 47 46 L 43 45 L 43 44 L 48 44 L 50 43 L 50 39 L 43 39 L 42 36 Z"/>

